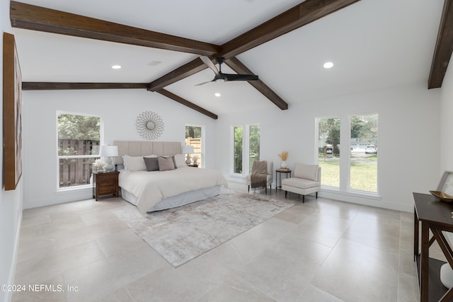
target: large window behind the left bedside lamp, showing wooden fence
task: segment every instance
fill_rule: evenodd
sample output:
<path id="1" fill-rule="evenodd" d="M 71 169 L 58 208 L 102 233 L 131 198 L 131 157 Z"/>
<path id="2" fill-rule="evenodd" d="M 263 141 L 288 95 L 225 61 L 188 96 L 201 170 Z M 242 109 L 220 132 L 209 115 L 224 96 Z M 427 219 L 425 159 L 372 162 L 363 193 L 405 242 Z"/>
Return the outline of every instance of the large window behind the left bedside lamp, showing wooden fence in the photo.
<path id="1" fill-rule="evenodd" d="M 59 188 L 89 185 L 93 162 L 99 158 L 101 118 L 58 114 Z"/>

